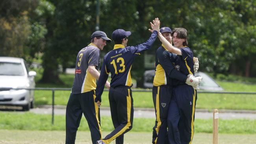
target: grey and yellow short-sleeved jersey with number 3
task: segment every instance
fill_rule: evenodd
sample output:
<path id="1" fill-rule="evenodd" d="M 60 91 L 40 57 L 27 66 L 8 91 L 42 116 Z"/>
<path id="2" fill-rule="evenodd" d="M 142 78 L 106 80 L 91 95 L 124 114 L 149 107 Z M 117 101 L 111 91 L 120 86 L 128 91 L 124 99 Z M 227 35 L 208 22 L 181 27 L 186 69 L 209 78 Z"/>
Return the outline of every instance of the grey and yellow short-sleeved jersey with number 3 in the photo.
<path id="1" fill-rule="evenodd" d="M 88 66 L 100 65 L 100 49 L 93 43 L 82 48 L 76 57 L 76 71 L 71 93 L 79 94 L 96 89 L 96 78 L 88 72 Z"/>

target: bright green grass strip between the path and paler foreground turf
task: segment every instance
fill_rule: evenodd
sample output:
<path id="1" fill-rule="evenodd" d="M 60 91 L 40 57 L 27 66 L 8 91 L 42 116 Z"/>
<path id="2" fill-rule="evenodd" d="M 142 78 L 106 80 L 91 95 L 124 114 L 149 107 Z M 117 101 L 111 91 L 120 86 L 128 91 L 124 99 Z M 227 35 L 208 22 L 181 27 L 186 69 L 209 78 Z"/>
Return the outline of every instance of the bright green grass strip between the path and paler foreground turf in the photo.
<path id="1" fill-rule="evenodd" d="M 65 116 L 55 115 L 54 125 L 51 124 L 50 114 L 34 114 L 30 112 L 0 112 L 0 129 L 19 129 L 19 130 L 58 130 L 65 131 Z M 151 132 L 154 126 L 154 118 L 134 118 L 131 131 Z M 195 120 L 196 133 L 212 133 L 212 120 Z M 101 117 L 102 131 L 112 131 L 113 124 L 110 116 Z M 80 131 L 89 131 L 88 124 L 83 117 L 80 122 Z M 241 133 L 255 134 L 256 120 L 236 119 L 219 120 L 219 133 Z"/>

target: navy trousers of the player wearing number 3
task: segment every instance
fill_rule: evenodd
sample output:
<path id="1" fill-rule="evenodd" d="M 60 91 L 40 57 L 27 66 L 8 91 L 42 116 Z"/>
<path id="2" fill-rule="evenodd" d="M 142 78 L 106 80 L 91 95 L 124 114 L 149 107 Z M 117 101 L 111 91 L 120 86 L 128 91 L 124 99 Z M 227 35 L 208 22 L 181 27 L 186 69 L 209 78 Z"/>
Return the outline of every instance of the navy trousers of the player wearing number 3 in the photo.
<path id="1" fill-rule="evenodd" d="M 100 129 L 100 108 L 94 102 L 95 90 L 81 93 L 70 94 L 66 109 L 66 144 L 74 144 L 76 131 L 80 125 L 82 114 L 85 116 L 91 131 L 91 140 L 96 144 L 97 140 L 102 139 Z"/>

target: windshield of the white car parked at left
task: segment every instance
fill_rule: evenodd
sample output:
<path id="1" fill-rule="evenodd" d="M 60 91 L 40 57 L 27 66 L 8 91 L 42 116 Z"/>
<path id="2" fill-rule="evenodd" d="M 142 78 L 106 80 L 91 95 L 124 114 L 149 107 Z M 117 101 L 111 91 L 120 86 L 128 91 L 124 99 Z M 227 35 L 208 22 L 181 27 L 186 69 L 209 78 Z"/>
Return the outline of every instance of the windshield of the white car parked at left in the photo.
<path id="1" fill-rule="evenodd" d="M 24 76 L 24 70 L 21 63 L 0 62 L 0 75 Z"/>

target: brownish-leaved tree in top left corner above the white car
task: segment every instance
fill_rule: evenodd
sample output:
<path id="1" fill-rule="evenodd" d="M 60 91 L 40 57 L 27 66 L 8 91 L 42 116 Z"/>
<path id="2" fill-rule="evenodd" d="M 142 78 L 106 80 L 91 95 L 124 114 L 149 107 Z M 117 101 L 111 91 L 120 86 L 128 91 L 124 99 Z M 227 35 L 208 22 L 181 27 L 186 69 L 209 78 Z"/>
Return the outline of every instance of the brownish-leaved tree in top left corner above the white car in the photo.
<path id="1" fill-rule="evenodd" d="M 29 13 L 38 4 L 37 0 L 0 1 L 0 55 L 27 58 L 30 49 L 26 42 L 32 34 Z"/>

